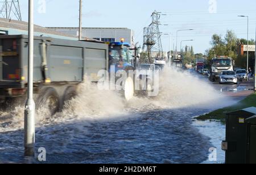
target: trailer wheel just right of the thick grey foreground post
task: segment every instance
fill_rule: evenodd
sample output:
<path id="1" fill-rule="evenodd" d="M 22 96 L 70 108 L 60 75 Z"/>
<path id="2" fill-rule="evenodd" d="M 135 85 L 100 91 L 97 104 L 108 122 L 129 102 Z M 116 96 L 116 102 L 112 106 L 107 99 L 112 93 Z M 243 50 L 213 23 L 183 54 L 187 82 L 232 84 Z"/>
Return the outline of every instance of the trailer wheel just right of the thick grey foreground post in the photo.
<path id="1" fill-rule="evenodd" d="M 49 114 L 54 115 L 60 109 L 60 98 L 53 87 L 47 87 L 39 95 L 36 101 L 36 109 L 46 109 Z"/>

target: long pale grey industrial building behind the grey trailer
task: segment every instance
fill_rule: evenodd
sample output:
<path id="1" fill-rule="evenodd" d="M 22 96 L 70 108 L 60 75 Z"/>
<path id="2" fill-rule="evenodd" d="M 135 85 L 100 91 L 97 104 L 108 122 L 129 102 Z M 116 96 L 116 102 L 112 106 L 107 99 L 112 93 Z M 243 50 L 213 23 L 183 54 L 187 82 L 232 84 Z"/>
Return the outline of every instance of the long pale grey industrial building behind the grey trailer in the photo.
<path id="1" fill-rule="evenodd" d="M 47 27 L 49 30 L 61 32 L 67 35 L 79 36 L 78 27 Z M 134 48 L 134 31 L 129 28 L 82 28 L 82 37 L 93 38 L 104 42 L 120 41 L 125 39 L 126 43 L 130 43 Z"/>

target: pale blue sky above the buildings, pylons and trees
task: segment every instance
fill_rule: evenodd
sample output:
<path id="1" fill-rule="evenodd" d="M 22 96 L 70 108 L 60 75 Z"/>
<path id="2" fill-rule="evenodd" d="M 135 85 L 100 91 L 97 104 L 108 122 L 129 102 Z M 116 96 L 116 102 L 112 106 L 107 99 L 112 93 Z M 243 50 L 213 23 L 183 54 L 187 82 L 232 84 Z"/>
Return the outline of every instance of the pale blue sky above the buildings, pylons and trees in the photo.
<path id="1" fill-rule="evenodd" d="M 35 24 L 43 27 L 77 27 L 79 25 L 79 0 L 34 0 Z M 45 4 L 45 6 L 44 6 Z M 27 21 L 28 1 L 20 1 L 22 19 Z M 163 50 L 168 51 L 193 45 L 196 53 L 210 48 L 213 34 L 225 36 L 233 30 L 238 38 L 247 38 L 247 19 L 238 15 L 249 15 L 249 38 L 255 39 L 256 1 L 254 0 L 83 0 L 82 27 L 126 27 L 135 31 L 135 40 L 143 45 L 143 28 L 151 23 L 151 14 L 156 10 L 160 16 L 160 32 Z M 168 25 L 168 26 L 167 26 Z M 171 42 L 170 42 L 171 41 Z"/>

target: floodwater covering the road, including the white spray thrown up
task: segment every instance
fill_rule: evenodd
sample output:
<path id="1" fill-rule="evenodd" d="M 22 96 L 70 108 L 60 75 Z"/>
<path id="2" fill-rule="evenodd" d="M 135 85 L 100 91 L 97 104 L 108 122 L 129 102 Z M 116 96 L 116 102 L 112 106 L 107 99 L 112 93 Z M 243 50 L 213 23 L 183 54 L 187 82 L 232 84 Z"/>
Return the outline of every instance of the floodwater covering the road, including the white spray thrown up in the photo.
<path id="1" fill-rule="evenodd" d="M 114 91 L 82 84 L 61 113 L 36 114 L 36 149 L 44 163 L 204 163 L 223 126 L 192 122 L 235 101 L 205 80 L 166 70 L 155 98 L 124 102 Z M 40 163 L 23 157 L 23 107 L 0 111 L 0 163 Z M 214 128 L 214 129 L 213 129 Z M 214 137 L 213 137 L 214 138 Z M 222 156 L 220 156 L 222 161 Z"/>

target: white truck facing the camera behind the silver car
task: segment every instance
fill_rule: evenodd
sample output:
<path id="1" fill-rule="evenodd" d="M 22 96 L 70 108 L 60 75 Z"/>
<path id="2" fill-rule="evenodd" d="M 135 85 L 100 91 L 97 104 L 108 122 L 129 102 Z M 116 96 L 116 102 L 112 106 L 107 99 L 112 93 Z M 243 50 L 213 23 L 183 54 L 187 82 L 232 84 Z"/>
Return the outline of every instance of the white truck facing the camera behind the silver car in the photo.
<path id="1" fill-rule="evenodd" d="M 220 78 L 220 75 L 224 71 L 233 71 L 234 61 L 232 58 L 227 56 L 220 56 L 213 58 L 210 65 L 210 76 L 209 80 L 214 82 Z"/>

